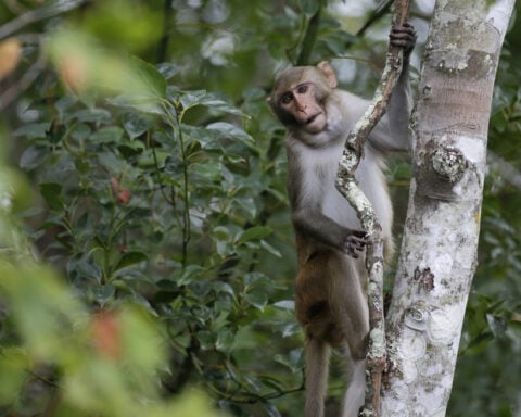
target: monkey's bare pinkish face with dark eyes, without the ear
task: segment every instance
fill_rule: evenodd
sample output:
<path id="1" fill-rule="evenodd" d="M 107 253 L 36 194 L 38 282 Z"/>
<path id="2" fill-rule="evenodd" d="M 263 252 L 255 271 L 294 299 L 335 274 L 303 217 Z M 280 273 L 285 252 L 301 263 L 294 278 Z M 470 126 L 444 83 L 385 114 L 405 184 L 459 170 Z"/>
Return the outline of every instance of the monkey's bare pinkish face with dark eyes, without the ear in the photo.
<path id="1" fill-rule="evenodd" d="M 328 122 L 320 96 L 319 88 L 314 83 L 291 86 L 278 99 L 277 114 L 284 114 L 283 117 L 279 116 L 282 123 L 292 119 L 295 127 L 312 135 L 318 134 L 326 128 Z"/>

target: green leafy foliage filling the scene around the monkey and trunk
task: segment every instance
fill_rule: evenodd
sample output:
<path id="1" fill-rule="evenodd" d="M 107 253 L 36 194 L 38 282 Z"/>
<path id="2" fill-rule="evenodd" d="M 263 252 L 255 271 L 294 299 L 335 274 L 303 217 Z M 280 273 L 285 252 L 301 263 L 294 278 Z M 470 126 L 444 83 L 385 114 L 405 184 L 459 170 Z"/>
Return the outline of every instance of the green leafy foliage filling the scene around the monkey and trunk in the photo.
<path id="1" fill-rule="evenodd" d="M 412 4 L 414 84 L 431 3 Z M 0 415 L 301 415 L 284 131 L 265 99 L 284 67 L 325 59 L 345 88 L 370 97 L 389 8 L 0 4 Z M 495 89 L 480 266 L 450 416 L 520 415 L 514 23 Z M 387 174 L 399 238 L 407 156 Z M 333 376 L 331 416 L 341 369 Z"/>

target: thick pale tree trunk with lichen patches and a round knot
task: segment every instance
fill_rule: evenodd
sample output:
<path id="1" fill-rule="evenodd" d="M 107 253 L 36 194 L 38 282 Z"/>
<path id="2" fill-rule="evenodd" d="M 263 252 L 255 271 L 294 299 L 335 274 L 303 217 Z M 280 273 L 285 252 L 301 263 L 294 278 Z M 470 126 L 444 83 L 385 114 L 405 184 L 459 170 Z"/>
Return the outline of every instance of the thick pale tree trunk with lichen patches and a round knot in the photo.
<path id="1" fill-rule="evenodd" d="M 412 116 L 414 175 L 386 321 L 385 417 L 445 415 L 476 267 L 494 77 L 513 3 L 436 2 Z"/>

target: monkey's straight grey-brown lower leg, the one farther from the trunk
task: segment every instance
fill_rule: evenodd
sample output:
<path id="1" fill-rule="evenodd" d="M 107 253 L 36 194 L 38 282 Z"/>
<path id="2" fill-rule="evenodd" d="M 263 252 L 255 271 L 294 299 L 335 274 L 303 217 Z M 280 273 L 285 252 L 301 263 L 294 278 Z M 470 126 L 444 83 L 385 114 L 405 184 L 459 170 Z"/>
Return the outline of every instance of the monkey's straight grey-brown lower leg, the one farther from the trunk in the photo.
<path id="1" fill-rule="evenodd" d="M 328 387 L 329 344 L 318 339 L 306 341 L 306 407 L 305 417 L 322 417 Z"/>

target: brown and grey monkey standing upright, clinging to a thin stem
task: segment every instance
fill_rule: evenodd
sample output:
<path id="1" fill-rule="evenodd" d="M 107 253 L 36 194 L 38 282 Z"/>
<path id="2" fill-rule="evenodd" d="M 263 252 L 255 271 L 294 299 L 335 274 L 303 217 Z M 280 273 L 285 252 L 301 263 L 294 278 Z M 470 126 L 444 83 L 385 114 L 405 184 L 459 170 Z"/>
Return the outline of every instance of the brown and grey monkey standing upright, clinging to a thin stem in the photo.
<path id="1" fill-rule="evenodd" d="M 393 207 L 382 169 L 385 153 L 409 149 L 408 63 L 415 41 L 411 25 L 393 28 L 391 42 L 404 50 L 403 72 L 356 173 L 382 225 L 387 254 L 393 251 Z M 295 311 L 306 337 L 305 417 L 323 416 L 331 348 L 343 352 L 351 374 L 342 416 L 355 417 L 364 404 L 369 331 L 367 273 L 358 260 L 367 237 L 334 182 L 344 142 L 368 102 L 336 89 L 327 62 L 287 70 L 268 101 L 289 130 L 288 192 L 298 263 Z"/>

